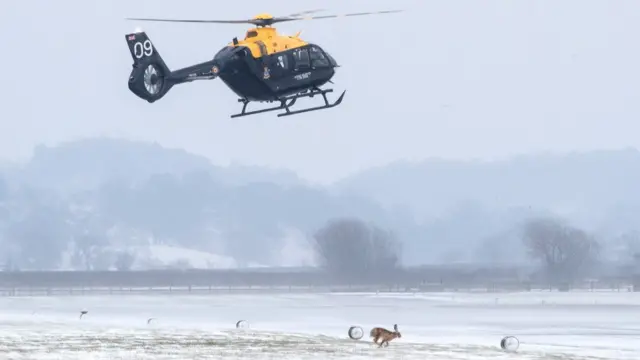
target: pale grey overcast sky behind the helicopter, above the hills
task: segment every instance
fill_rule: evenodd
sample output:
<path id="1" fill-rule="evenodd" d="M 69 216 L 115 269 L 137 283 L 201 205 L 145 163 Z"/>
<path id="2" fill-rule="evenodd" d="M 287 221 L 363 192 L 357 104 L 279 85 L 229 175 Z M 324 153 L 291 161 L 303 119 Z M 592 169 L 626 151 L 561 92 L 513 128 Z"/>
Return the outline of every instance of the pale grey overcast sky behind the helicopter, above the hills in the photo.
<path id="1" fill-rule="evenodd" d="M 111 135 L 182 147 L 217 164 L 286 167 L 328 182 L 403 158 L 640 145 L 639 1 L 227 4 L 1 2 L 0 158 L 26 158 L 40 142 Z M 239 104 L 221 81 L 178 86 L 155 104 L 127 88 L 132 61 L 124 34 L 136 25 L 171 68 L 211 58 L 246 30 L 136 24 L 127 16 L 242 19 L 319 7 L 409 10 L 279 27 L 302 30 L 343 66 L 334 81 L 347 95 L 336 109 L 230 119 Z"/>

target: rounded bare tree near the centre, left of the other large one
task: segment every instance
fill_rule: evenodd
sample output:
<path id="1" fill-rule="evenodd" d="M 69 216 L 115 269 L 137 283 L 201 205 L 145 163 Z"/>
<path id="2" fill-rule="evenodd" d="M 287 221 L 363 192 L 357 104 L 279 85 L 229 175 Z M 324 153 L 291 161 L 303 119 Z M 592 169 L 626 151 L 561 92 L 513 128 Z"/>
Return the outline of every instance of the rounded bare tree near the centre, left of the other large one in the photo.
<path id="1" fill-rule="evenodd" d="M 313 245 L 323 267 L 345 278 L 380 277 L 399 265 L 395 235 L 359 219 L 329 221 L 315 233 Z"/>

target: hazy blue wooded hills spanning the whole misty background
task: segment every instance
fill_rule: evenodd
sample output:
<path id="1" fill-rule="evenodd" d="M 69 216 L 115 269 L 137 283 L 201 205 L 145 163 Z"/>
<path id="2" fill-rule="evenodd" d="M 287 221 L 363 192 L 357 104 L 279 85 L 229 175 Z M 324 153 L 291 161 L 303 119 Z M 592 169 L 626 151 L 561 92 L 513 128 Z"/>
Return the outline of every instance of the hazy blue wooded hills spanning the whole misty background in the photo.
<path id="1" fill-rule="evenodd" d="M 293 229 L 311 232 L 310 245 L 320 263 L 327 270 L 340 269 L 332 270 L 334 274 L 364 276 L 372 268 L 390 268 L 385 264 L 400 257 L 401 239 L 405 265 L 522 264 L 533 259 L 544 270 L 540 276 L 579 278 L 602 260 L 630 262 L 637 254 L 640 261 L 640 236 L 630 230 L 640 230 L 632 220 L 640 198 L 628 190 L 634 186 L 633 177 L 622 177 L 626 180 L 615 194 L 607 194 L 606 201 L 598 196 L 587 199 L 594 211 L 610 216 L 597 225 L 609 231 L 626 227 L 622 234 L 599 235 L 596 240 L 557 218 L 531 219 L 531 206 L 544 211 L 556 201 L 598 192 L 606 181 L 560 180 L 584 173 L 601 176 L 599 169 L 620 161 L 633 165 L 638 158 L 629 154 L 585 155 L 578 161 L 560 157 L 562 166 L 544 158 L 514 160 L 506 167 L 440 161 L 399 164 L 350 177 L 329 191 L 306 186 L 288 171 L 217 167 L 204 157 L 158 144 L 101 138 L 39 146 L 27 163 L 1 168 L 0 263 L 11 269 L 56 269 L 62 263 L 76 269 L 126 269 L 133 263 L 139 266 L 143 256 L 125 247 L 153 243 L 222 253 L 240 265 L 271 265 L 280 257 L 274 253 L 283 247 L 283 234 Z M 543 169 L 541 173 L 553 173 L 556 183 L 569 187 L 531 183 L 531 161 L 540 164 L 536 167 Z M 549 172 L 549 166 L 554 170 Z M 628 168 L 633 166 L 616 165 L 606 173 L 622 174 Z M 517 195 L 505 197 L 509 205 L 496 200 L 504 192 L 505 169 L 521 176 L 516 182 L 509 177 L 510 185 L 530 189 L 510 189 Z M 370 197 L 376 193 L 373 201 Z M 487 201 L 493 205 L 487 206 Z M 397 203 L 404 205 L 392 205 Z M 627 206 L 610 207 L 615 203 Z M 439 216 L 432 217 L 435 212 Z M 327 219 L 334 220 L 325 224 Z M 513 228 L 523 222 L 526 225 Z M 320 230 L 313 233 L 316 229 Z M 394 245 L 380 244 L 379 238 Z M 352 251 L 350 263 L 344 263 L 342 251 Z M 157 266 L 164 265 L 143 267 Z"/>

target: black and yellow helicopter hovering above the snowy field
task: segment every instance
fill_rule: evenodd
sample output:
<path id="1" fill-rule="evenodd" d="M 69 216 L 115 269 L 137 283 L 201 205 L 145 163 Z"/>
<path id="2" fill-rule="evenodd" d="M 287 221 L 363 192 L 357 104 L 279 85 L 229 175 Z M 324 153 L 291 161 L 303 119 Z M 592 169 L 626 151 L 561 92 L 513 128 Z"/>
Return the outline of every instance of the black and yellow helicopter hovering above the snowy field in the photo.
<path id="1" fill-rule="evenodd" d="M 165 64 L 146 32 L 137 30 L 126 34 L 129 52 L 133 58 L 129 90 L 141 99 L 153 103 L 164 97 L 177 84 L 220 78 L 240 97 L 238 102 L 242 103 L 242 111 L 231 115 L 231 118 L 284 110 L 278 114 L 278 117 L 281 117 L 336 107 L 342 103 L 346 90 L 335 102 L 330 103 L 327 94 L 333 92 L 333 89 L 321 88 L 326 83 L 333 84 L 331 79 L 335 75 L 335 69 L 339 67 L 336 60 L 319 45 L 302 40 L 300 32 L 292 36 L 282 35 L 273 25 L 296 20 L 386 14 L 402 10 L 308 16 L 318 11 L 321 10 L 299 12 L 284 17 L 264 13 L 248 20 L 127 18 L 134 21 L 254 26 L 246 31 L 243 40 L 234 37 L 214 55 L 213 59 L 173 71 Z M 300 110 L 291 109 L 297 99 L 312 98 L 316 95 L 322 96 L 324 105 Z M 280 105 L 247 111 L 250 102 L 279 102 Z"/>

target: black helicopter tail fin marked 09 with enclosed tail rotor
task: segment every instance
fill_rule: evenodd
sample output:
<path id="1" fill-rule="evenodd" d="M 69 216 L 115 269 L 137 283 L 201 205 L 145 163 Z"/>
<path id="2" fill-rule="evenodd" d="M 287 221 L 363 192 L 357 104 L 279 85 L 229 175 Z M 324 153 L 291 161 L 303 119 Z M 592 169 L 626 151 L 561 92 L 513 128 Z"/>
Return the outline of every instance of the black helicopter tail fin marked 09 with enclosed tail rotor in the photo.
<path id="1" fill-rule="evenodd" d="M 127 34 L 125 38 L 133 58 L 129 90 L 150 103 L 159 100 L 173 86 L 167 81 L 171 70 L 145 32 Z"/>

